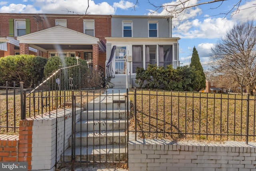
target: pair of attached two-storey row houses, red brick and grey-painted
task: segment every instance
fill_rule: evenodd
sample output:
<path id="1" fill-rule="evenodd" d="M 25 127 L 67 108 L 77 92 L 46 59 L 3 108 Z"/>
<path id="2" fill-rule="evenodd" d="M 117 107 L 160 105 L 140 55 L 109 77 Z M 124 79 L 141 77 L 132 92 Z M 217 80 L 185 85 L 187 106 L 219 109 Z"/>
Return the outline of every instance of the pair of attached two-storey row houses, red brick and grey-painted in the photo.
<path id="1" fill-rule="evenodd" d="M 0 57 L 80 57 L 114 87 L 135 84 L 137 67 L 180 65 L 172 16 L 0 13 Z"/>

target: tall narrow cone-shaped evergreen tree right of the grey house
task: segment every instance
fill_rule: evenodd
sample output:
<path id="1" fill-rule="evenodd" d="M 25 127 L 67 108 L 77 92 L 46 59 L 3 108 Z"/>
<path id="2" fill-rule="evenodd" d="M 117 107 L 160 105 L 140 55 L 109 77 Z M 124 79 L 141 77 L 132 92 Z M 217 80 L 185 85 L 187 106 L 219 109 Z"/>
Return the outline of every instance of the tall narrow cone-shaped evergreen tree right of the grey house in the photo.
<path id="1" fill-rule="evenodd" d="M 200 72 L 200 75 L 201 75 L 200 85 L 198 85 L 194 90 L 199 91 L 201 89 L 204 89 L 206 87 L 206 79 L 205 79 L 204 70 L 200 63 L 198 52 L 195 46 L 193 48 L 190 67 L 194 67 L 196 71 Z"/>

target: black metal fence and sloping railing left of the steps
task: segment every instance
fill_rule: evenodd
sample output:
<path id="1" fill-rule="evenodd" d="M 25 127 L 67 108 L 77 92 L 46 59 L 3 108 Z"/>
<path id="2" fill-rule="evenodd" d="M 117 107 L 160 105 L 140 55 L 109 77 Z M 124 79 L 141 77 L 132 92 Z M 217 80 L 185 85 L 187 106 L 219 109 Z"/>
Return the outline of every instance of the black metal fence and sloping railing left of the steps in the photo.
<path id="1" fill-rule="evenodd" d="M 58 69 L 42 83 L 33 88 L 0 87 L 0 133 L 16 133 L 20 119 L 43 115 L 58 108 L 71 105 L 72 94 L 104 87 L 105 79 L 101 68 L 90 69 L 81 64 Z"/>

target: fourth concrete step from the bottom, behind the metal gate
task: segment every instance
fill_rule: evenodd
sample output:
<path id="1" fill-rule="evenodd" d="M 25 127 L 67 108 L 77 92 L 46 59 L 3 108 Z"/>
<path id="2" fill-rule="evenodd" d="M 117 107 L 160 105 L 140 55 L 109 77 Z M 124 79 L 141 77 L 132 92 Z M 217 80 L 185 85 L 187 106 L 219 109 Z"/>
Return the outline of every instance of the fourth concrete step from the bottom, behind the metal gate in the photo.
<path id="1" fill-rule="evenodd" d="M 126 110 L 84 110 L 82 120 L 85 119 L 127 119 Z"/>

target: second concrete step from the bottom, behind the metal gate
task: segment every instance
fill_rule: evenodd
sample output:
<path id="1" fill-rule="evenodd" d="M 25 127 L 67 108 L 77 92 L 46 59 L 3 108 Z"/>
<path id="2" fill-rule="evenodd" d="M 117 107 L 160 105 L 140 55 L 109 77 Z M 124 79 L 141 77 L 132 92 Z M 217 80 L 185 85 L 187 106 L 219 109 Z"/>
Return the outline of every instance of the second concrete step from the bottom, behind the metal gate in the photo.
<path id="1" fill-rule="evenodd" d="M 125 145 L 127 142 L 127 135 L 124 130 L 120 131 L 88 131 L 77 132 L 75 135 L 76 146 L 88 146 L 88 145 Z M 72 144 L 72 137 L 69 138 L 69 144 Z"/>

